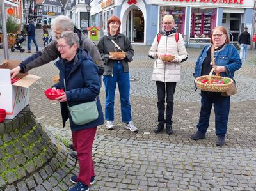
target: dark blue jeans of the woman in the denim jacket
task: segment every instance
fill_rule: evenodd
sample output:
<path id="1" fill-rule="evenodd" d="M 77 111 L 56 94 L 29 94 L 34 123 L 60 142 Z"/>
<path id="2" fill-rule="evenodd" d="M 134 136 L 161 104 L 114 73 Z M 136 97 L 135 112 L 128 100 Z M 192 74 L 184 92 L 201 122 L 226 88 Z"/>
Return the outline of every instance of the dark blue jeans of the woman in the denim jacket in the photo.
<path id="1" fill-rule="evenodd" d="M 201 91 L 201 111 L 197 124 L 198 131 L 203 134 L 206 133 L 209 127 L 212 105 L 215 113 L 215 133 L 218 137 L 225 137 L 230 110 L 230 97 L 221 96 L 221 93 Z"/>

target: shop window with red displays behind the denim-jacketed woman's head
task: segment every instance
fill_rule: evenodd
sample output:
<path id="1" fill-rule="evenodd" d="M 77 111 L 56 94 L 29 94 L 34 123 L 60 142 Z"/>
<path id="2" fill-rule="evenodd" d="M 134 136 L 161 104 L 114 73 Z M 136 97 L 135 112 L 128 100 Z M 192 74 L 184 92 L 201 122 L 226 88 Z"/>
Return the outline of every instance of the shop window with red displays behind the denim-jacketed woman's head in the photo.
<path id="1" fill-rule="evenodd" d="M 216 26 L 216 11 L 217 9 L 211 8 L 192 8 L 191 38 L 210 38 L 211 31 Z"/>

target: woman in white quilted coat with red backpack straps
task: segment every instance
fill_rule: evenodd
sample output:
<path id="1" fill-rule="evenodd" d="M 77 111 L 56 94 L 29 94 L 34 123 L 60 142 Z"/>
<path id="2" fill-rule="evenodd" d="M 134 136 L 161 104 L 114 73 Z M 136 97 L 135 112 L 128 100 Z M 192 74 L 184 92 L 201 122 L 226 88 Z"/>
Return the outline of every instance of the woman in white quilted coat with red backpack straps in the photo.
<path id="1" fill-rule="evenodd" d="M 166 124 L 166 133 L 172 134 L 173 96 L 176 83 L 180 81 L 180 63 L 188 59 L 182 35 L 174 28 L 172 15 L 163 17 L 163 29 L 156 35 L 148 52 L 150 58 L 155 59 L 152 80 L 156 81 L 158 125 L 155 132 L 159 133 Z M 174 59 L 170 62 L 162 61 L 161 56 L 170 54 Z M 166 97 L 166 119 L 164 119 Z"/>

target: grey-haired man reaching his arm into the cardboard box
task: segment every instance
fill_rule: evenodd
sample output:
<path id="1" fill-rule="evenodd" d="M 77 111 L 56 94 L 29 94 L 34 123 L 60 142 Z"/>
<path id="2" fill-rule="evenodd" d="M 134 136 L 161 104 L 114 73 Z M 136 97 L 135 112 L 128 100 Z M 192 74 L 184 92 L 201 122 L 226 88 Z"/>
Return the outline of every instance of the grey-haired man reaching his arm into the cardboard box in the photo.
<path id="1" fill-rule="evenodd" d="M 51 22 L 51 29 L 54 32 L 54 36 L 56 39 L 58 39 L 58 36 L 60 36 L 63 31 L 74 31 L 74 33 L 77 33 L 80 39 L 81 49 L 88 50 L 88 53 L 93 59 L 93 62 L 99 68 L 100 75 L 103 74 L 103 61 L 100 57 L 99 50 L 97 49 L 95 43 L 93 43 L 92 40 L 88 38 L 88 36 L 81 33 L 81 31 L 79 31 L 78 29 L 74 28 L 74 23 L 69 17 L 63 15 L 56 17 Z M 28 72 L 32 68 L 42 66 L 60 57 L 60 52 L 58 52 L 58 48 L 56 46 L 56 39 L 52 40 L 52 42 L 45 46 L 44 49 L 40 50 L 40 52 L 29 56 L 27 59 L 22 61 L 19 66 L 13 68 L 11 70 L 11 77 L 14 78 L 19 72 Z"/>

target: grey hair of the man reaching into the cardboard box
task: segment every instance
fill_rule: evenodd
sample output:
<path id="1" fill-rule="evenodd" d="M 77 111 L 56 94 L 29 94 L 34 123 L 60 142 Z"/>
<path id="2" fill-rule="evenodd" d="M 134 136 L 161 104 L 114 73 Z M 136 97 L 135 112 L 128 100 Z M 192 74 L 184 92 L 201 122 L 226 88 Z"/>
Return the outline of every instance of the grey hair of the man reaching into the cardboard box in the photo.
<path id="1" fill-rule="evenodd" d="M 51 29 L 61 29 L 61 31 L 73 31 L 74 23 L 72 19 L 70 19 L 70 17 L 60 15 L 52 20 Z"/>

